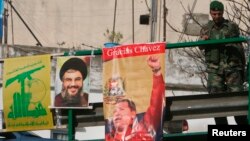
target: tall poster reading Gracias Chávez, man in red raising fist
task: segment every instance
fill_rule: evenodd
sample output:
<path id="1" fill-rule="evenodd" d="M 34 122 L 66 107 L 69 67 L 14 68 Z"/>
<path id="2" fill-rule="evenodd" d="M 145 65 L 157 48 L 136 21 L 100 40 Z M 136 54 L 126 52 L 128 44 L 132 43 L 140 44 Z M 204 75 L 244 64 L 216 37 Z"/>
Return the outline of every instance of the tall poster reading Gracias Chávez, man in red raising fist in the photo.
<path id="1" fill-rule="evenodd" d="M 162 139 L 165 43 L 103 48 L 106 141 Z"/>

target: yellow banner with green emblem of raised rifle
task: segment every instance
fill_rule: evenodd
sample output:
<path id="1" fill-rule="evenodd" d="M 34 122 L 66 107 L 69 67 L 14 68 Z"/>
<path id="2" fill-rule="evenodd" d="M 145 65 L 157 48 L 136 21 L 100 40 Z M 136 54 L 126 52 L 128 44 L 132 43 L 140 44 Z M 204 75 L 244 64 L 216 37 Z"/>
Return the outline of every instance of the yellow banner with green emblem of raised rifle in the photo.
<path id="1" fill-rule="evenodd" d="M 51 129 L 50 55 L 4 60 L 3 106 L 7 131 Z"/>

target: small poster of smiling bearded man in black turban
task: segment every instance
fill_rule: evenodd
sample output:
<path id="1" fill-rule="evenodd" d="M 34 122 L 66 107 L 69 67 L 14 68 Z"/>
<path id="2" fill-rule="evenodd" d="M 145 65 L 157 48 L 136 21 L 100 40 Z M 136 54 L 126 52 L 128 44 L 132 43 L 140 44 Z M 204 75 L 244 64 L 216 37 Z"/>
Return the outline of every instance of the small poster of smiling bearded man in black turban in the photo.
<path id="1" fill-rule="evenodd" d="M 58 57 L 56 63 L 54 107 L 88 107 L 90 57 Z"/>

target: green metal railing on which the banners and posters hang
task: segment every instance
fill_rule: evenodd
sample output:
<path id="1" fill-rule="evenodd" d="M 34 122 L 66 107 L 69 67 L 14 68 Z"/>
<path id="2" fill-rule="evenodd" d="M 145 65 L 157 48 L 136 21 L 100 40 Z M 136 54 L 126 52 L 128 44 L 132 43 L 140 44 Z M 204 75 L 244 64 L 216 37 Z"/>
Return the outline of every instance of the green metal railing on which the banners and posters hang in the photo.
<path id="1" fill-rule="evenodd" d="M 166 43 L 166 49 L 176 49 L 176 48 L 185 48 L 185 47 L 196 47 L 196 46 L 203 46 L 203 45 L 214 45 L 214 44 L 226 44 L 226 43 L 240 43 L 240 42 L 249 42 L 250 38 L 247 37 L 239 37 L 239 38 L 228 38 L 228 39 L 221 39 L 221 40 L 199 40 L 199 41 L 191 41 L 191 42 L 181 42 L 181 43 Z M 249 47 L 250 48 L 250 47 Z M 102 55 L 101 49 L 96 50 L 82 50 L 82 51 L 74 51 L 74 52 L 65 52 L 64 56 L 75 55 Z M 248 68 L 250 68 L 250 57 L 248 58 Z M 250 74 L 250 69 L 248 70 L 248 74 Z M 250 75 L 248 75 L 248 84 L 250 85 Z M 250 90 L 248 90 L 248 101 L 250 101 Z M 68 140 L 72 141 L 75 140 L 73 136 L 74 124 L 73 124 L 73 109 L 69 109 L 68 112 Z M 250 124 L 250 104 L 248 102 L 248 124 Z M 206 135 L 206 132 L 197 132 L 197 133 L 185 133 L 185 136 L 194 136 L 194 135 Z M 173 138 L 173 137 L 180 137 L 184 134 L 167 134 L 164 135 L 164 138 Z"/>

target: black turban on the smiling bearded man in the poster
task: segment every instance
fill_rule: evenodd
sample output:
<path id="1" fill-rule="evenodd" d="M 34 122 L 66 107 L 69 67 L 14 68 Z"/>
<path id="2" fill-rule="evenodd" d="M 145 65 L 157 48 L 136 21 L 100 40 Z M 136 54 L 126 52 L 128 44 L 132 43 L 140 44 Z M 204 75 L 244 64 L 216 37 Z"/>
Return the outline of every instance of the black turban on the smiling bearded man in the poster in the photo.
<path id="1" fill-rule="evenodd" d="M 78 70 L 82 74 L 83 80 L 87 77 L 87 65 L 85 62 L 80 59 L 80 58 L 70 58 L 68 59 L 61 67 L 60 70 L 60 79 L 62 80 L 64 73 L 69 70 L 69 69 L 74 69 Z"/>

